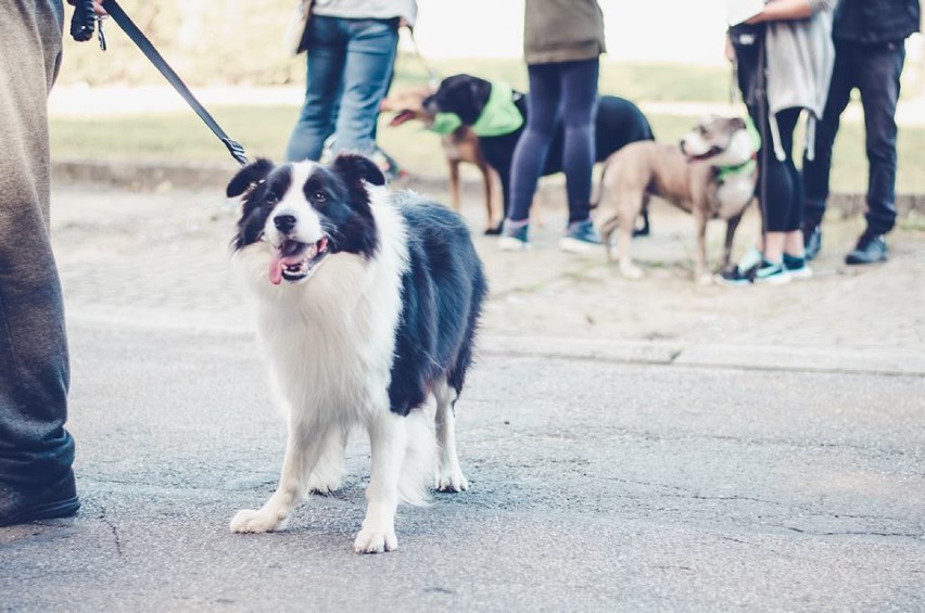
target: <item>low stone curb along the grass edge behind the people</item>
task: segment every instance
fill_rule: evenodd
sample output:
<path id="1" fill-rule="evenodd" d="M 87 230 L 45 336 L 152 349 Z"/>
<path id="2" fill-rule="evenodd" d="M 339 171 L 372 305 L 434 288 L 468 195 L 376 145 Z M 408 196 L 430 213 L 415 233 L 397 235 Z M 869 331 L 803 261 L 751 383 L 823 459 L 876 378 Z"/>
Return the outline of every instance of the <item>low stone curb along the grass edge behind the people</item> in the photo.
<path id="1" fill-rule="evenodd" d="M 53 159 L 52 180 L 60 183 L 104 183 L 131 190 L 164 191 L 181 189 L 220 189 L 237 170 L 228 163 L 205 162 L 134 162 L 102 159 Z M 442 192 L 446 189 L 445 177 L 414 177 L 409 187 L 419 191 Z M 464 189 L 481 189 L 480 181 L 463 179 Z M 545 189 L 541 186 L 540 190 Z M 845 217 L 863 215 L 866 210 L 865 194 L 834 193 L 829 207 L 841 212 Z M 896 207 L 900 215 L 925 215 L 925 194 L 897 194 Z"/>

